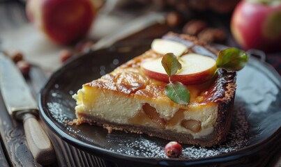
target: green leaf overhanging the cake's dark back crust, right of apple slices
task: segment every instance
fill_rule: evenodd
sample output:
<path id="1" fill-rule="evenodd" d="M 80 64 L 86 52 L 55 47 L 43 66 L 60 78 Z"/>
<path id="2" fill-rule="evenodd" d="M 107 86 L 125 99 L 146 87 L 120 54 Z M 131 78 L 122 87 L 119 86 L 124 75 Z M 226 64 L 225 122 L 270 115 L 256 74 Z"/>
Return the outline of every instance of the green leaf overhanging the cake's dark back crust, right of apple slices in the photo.
<path id="1" fill-rule="evenodd" d="M 249 57 L 245 51 L 231 47 L 221 50 L 218 53 L 216 64 L 218 68 L 224 68 L 229 71 L 238 71 L 245 67 L 248 59 Z"/>

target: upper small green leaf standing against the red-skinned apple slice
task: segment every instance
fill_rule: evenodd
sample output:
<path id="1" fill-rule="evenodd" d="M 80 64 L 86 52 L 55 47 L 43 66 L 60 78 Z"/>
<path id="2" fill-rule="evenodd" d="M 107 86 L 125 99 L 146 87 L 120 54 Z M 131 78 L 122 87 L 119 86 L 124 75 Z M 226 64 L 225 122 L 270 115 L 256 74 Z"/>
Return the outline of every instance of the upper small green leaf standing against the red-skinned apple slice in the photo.
<path id="1" fill-rule="evenodd" d="M 181 63 L 179 63 L 179 61 L 176 59 L 176 56 L 174 56 L 172 53 L 165 54 L 161 63 L 169 77 L 171 77 L 173 74 L 176 74 L 176 72 L 181 69 Z"/>

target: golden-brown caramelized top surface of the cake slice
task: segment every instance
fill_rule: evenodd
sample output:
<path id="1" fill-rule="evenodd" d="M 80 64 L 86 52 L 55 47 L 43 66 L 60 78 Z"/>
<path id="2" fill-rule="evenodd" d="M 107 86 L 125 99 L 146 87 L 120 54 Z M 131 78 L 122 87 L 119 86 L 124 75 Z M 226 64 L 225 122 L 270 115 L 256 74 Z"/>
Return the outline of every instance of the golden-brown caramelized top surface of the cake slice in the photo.
<path id="1" fill-rule="evenodd" d="M 158 58 L 152 50 L 146 51 L 142 56 L 137 56 L 127 63 L 116 68 L 113 72 L 92 81 L 87 86 L 98 86 L 109 90 L 116 90 L 128 95 L 138 95 L 149 98 L 167 98 L 165 86 L 167 83 L 152 79 L 142 71 L 140 64 L 151 58 Z M 225 97 L 226 86 L 233 82 L 234 75 L 220 71 L 218 76 L 202 84 L 188 85 L 190 90 L 190 104 L 208 104 Z"/>

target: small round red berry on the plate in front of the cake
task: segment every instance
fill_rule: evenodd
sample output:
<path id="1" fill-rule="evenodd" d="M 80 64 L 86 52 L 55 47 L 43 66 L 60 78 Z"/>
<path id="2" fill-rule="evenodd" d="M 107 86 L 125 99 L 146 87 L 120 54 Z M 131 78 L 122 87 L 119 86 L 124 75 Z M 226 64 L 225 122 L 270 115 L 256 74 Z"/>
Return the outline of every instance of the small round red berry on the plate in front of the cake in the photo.
<path id="1" fill-rule="evenodd" d="M 181 145 L 176 141 L 170 141 L 165 145 L 165 154 L 168 157 L 177 158 L 181 155 L 183 148 Z"/>

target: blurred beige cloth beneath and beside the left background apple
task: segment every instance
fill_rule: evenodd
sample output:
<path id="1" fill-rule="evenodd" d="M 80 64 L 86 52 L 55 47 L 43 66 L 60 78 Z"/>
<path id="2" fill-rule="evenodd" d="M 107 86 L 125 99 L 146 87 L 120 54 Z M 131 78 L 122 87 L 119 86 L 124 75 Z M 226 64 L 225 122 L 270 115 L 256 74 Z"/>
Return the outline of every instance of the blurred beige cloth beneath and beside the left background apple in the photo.
<path id="1" fill-rule="evenodd" d="M 128 19 L 114 15 L 98 15 L 87 37 L 102 38 L 128 22 Z M 9 54 L 13 54 L 15 51 L 22 52 L 26 61 L 39 65 L 47 76 L 61 67 L 62 63 L 59 57 L 61 49 L 73 49 L 69 46 L 54 44 L 29 23 L 0 31 L 0 34 L 1 49 L 6 50 Z"/>

